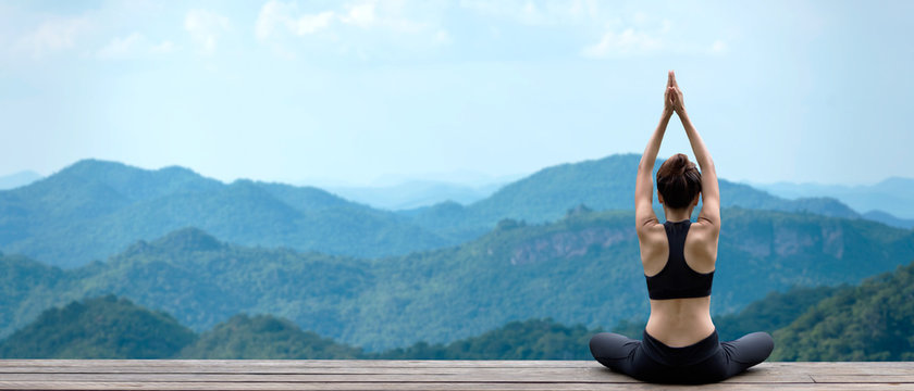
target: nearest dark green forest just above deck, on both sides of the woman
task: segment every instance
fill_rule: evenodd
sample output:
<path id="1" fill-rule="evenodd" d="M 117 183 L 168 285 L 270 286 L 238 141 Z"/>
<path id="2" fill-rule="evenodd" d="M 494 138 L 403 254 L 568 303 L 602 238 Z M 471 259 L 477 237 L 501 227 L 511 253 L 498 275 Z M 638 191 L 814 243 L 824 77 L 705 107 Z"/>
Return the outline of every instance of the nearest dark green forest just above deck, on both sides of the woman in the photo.
<path id="1" fill-rule="evenodd" d="M 914 264 L 860 286 L 794 288 L 715 317 L 724 340 L 753 331 L 775 337 L 771 361 L 914 358 Z M 643 323 L 613 331 L 640 338 Z M 238 314 L 201 333 L 162 312 L 104 295 L 47 310 L 3 341 L 3 358 L 385 358 L 590 360 L 603 330 L 551 318 L 509 321 L 446 344 L 366 352 L 272 315 Z"/>

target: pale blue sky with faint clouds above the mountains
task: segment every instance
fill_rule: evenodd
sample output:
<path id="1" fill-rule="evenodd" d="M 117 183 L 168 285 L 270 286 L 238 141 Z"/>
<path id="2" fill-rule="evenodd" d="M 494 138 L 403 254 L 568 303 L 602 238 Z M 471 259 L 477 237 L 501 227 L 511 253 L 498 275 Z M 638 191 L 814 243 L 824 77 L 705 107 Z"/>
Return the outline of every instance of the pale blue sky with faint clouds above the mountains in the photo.
<path id="1" fill-rule="evenodd" d="M 720 177 L 914 177 L 914 1 L 0 1 L 0 175 L 485 181 L 641 153 L 675 70 Z M 659 155 L 692 156 L 677 118 Z"/>

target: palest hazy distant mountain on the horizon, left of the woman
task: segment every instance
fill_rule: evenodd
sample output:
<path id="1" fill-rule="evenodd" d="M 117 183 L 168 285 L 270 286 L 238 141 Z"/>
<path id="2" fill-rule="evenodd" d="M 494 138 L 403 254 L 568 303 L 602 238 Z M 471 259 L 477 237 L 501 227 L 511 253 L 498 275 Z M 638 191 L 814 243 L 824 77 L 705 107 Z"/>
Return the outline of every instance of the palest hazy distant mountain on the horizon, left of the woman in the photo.
<path id="1" fill-rule="evenodd" d="M 347 200 L 373 207 L 399 211 L 453 201 L 468 204 L 482 200 L 504 184 L 467 186 L 433 180 L 410 180 L 386 187 L 329 187 L 326 190 Z"/>

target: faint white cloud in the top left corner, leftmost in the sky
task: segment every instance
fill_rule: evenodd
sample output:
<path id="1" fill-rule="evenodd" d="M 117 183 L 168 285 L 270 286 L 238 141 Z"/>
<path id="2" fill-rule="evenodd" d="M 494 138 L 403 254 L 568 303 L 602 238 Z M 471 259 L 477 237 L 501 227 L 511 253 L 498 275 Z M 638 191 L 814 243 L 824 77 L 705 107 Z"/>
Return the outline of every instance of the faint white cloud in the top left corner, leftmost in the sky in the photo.
<path id="1" fill-rule="evenodd" d="M 86 17 L 62 17 L 45 21 L 35 30 L 22 37 L 16 48 L 32 53 L 35 59 L 51 52 L 75 47 L 76 40 L 91 29 Z"/>

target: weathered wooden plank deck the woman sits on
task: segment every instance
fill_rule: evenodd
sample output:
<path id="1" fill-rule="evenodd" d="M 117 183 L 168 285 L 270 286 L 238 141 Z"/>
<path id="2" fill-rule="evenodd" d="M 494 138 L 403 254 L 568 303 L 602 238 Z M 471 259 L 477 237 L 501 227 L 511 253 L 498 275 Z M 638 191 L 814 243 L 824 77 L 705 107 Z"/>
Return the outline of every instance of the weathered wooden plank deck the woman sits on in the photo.
<path id="1" fill-rule="evenodd" d="M 588 361 L 0 360 L 0 390 L 670 390 Z M 763 363 L 707 390 L 914 390 L 914 363 Z"/>

